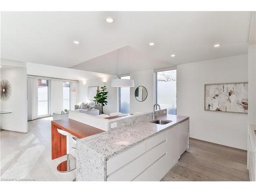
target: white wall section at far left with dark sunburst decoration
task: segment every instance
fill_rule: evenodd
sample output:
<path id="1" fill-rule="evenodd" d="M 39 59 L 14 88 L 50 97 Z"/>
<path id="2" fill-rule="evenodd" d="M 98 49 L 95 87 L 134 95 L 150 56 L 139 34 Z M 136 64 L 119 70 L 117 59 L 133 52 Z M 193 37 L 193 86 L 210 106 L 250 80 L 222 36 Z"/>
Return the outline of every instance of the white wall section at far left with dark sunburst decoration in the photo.
<path id="1" fill-rule="evenodd" d="M 9 60 L 8 62 L 12 61 Z M 1 65 L 4 65 L 4 63 L 2 62 Z M 23 66 L 23 62 L 20 62 L 20 66 Z M 7 101 L 1 100 L 1 111 L 12 112 L 11 114 L 1 115 L 1 128 L 27 133 L 27 69 L 24 67 L 1 69 L 1 79 L 7 79 L 12 86 L 10 99 Z"/>

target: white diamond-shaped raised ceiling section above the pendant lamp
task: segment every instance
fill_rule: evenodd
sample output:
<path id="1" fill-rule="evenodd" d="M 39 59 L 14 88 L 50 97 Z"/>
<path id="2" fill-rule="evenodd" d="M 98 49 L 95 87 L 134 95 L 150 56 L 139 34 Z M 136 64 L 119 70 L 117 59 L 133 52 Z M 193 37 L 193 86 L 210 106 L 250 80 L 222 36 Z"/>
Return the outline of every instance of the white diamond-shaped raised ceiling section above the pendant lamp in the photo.
<path id="1" fill-rule="evenodd" d="M 125 46 L 71 68 L 116 75 L 170 66 L 172 65 L 169 62 L 156 59 L 130 46 Z"/>

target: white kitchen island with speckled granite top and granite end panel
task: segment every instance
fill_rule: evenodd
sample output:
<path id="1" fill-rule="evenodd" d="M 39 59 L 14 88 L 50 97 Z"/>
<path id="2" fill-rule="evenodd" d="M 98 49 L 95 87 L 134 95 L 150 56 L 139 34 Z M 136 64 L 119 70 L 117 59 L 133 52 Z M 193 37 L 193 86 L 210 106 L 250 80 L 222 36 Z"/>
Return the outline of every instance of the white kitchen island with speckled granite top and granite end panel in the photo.
<path id="1" fill-rule="evenodd" d="M 77 181 L 159 181 L 188 150 L 189 118 L 136 122 L 77 142 Z"/>

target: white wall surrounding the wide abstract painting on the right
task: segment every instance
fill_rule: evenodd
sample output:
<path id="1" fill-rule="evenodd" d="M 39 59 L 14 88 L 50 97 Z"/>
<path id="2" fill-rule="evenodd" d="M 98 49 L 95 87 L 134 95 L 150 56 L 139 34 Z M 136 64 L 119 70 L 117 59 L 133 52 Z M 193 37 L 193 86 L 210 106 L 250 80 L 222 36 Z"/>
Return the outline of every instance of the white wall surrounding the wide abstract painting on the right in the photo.
<path id="1" fill-rule="evenodd" d="M 190 137 L 247 148 L 247 114 L 204 111 L 204 84 L 248 81 L 247 55 L 177 66 L 177 113 L 189 116 Z"/>

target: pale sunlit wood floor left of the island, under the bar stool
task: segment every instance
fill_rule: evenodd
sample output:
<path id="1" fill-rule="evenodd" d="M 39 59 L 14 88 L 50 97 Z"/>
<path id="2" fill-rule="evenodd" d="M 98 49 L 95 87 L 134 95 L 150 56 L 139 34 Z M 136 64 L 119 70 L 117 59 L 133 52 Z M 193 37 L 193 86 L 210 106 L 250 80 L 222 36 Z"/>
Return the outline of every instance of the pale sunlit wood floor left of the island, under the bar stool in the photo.
<path id="1" fill-rule="evenodd" d="M 66 157 L 51 159 L 52 117 L 28 122 L 28 133 L 2 131 L 1 178 L 35 181 L 72 181 L 76 170 L 59 173 L 57 165 Z"/>

